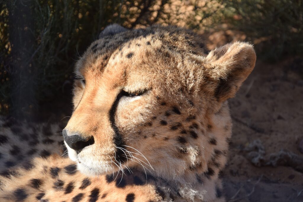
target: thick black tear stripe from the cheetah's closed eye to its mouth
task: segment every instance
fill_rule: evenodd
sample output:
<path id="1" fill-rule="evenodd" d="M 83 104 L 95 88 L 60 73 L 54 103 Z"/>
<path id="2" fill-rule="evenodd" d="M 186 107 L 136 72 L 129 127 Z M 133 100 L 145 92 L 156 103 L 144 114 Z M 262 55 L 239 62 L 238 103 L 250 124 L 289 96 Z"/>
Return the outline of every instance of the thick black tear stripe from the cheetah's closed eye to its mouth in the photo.
<path id="1" fill-rule="evenodd" d="M 124 146 L 122 146 L 122 145 L 125 145 L 125 142 L 122 139 L 122 136 L 119 132 L 119 128 L 116 126 L 115 114 L 116 114 L 116 111 L 117 111 L 119 101 L 120 101 L 120 99 L 122 98 L 122 96 L 124 94 L 125 94 L 124 91 L 121 91 L 117 95 L 117 97 L 116 97 L 116 99 L 115 99 L 115 101 L 114 101 L 114 103 L 113 103 L 113 105 L 112 105 L 112 107 L 111 107 L 111 109 L 109 110 L 109 113 L 108 113 L 109 121 L 111 123 L 112 129 L 115 132 L 114 138 L 113 138 L 114 139 L 114 144 L 116 145 L 116 147 L 121 147 L 121 148 L 124 148 Z M 126 156 L 125 156 L 124 152 L 121 149 L 118 149 L 118 148 L 116 148 L 116 160 L 118 162 L 121 161 L 121 163 L 126 161 Z"/>

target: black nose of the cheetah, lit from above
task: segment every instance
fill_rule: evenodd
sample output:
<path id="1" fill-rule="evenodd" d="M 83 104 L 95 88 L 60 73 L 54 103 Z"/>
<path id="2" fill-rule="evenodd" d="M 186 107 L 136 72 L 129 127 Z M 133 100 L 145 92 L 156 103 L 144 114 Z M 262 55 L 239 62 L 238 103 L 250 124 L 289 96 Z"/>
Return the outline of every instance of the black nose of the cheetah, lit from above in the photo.
<path id="1" fill-rule="evenodd" d="M 67 135 L 67 131 L 65 129 L 62 131 L 62 133 L 66 144 L 77 153 L 80 153 L 84 147 L 95 143 L 94 137 L 92 136 L 84 138 L 79 134 Z"/>

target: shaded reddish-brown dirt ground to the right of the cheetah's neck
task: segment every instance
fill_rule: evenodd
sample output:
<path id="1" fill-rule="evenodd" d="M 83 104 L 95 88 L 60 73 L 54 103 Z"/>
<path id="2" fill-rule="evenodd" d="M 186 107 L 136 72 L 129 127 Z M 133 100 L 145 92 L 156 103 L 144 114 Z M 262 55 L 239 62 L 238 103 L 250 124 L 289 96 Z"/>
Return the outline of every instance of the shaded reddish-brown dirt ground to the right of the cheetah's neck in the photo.
<path id="1" fill-rule="evenodd" d="M 230 100 L 227 201 L 303 201 L 302 64 L 257 62 Z"/>

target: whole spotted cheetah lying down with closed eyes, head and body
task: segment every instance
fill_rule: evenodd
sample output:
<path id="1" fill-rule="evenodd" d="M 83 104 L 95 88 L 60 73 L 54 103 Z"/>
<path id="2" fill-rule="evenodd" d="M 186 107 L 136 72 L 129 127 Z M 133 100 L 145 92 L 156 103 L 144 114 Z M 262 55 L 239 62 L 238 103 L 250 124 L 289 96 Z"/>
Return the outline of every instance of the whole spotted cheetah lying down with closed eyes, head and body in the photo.
<path id="1" fill-rule="evenodd" d="M 225 201 L 227 100 L 255 61 L 245 42 L 208 51 L 185 28 L 108 26 L 75 65 L 62 134 L 0 122 L 0 200 Z"/>

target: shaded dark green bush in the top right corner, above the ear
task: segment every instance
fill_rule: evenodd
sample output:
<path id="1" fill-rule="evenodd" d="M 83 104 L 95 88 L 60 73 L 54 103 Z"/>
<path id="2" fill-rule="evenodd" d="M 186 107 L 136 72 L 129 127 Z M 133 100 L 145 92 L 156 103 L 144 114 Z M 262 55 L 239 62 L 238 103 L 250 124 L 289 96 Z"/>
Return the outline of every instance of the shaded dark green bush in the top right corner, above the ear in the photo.
<path id="1" fill-rule="evenodd" d="M 228 24 L 256 45 L 258 58 L 276 61 L 302 56 L 301 0 L 229 0 L 224 12 Z"/>

